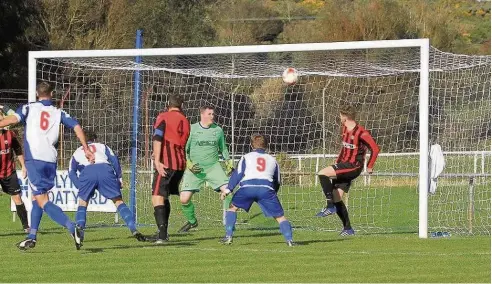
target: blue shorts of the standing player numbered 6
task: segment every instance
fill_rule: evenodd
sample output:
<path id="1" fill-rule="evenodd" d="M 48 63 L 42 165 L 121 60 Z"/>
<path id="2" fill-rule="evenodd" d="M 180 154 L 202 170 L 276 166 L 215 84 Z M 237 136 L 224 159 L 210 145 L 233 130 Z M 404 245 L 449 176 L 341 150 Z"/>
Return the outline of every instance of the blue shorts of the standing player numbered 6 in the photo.
<path id="1" fill-rule="evenodd" d="M 32 195 L 45 194 L 55 186 L 56 163 L 28 160 L 26 169 Z"/>

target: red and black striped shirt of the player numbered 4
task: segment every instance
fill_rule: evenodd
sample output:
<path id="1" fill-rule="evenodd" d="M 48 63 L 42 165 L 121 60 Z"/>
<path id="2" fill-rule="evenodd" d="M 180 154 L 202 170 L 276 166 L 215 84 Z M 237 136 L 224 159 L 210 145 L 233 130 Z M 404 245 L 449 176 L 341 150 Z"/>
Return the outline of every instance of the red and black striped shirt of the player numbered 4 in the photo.
<path id="1" fill-rule="evenodd" d="M 164 168 L 186 168 L 185 147 L 190 136 L 190 122 L 181 111 L 166 111 L 157 116 L 153 140 L 162 142 L 161 162 Z"/>

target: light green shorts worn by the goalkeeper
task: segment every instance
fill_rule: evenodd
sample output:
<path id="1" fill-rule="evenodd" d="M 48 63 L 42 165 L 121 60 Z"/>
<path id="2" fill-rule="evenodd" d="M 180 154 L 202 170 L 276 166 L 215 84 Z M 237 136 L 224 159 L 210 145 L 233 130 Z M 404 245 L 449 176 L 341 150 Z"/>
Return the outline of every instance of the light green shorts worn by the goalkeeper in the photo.
<path id="1" fill-rule="evenodd" d="M 220 163 L 208 166 L 201 173 L 194 174 L 189 169 L 186 169 L 183 176 L 181 191 L 200 191 L 207 183 L 208 186 L 215 191 L 219 191 L 220 187 L 229 182 L 229 178 L 224 172 Z"/>

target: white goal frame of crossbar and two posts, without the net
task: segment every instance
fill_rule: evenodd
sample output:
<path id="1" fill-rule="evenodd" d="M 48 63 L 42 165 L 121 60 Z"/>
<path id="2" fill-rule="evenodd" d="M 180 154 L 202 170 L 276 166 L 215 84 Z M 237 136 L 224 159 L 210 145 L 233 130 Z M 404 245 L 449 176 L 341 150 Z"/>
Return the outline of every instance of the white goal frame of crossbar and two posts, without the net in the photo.
<path id="1" fill-rule="evenodd" d="M 429 39 L 249 45 L 188 48 L 64 50 L 29 52 L 29 102 L 36 100 L 36 60 L 40 58 L 137 57 L 171 55 L 212 55 L 264 52 L 302 52 L 380 48 L 420 48 L 419 84 L 419 237 L 428 237 L 428 153 L 429 153 Z M 135 181 L 132 181 L 133 183 Z"/>

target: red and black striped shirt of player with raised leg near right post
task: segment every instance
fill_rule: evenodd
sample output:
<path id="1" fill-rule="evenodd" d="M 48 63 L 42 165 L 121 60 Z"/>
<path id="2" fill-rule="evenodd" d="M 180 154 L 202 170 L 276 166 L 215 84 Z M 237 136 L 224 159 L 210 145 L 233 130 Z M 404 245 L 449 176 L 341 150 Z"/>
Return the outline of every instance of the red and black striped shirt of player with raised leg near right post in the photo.
<path id="1" fill-rule="evenodd" d="M 368 149 L 371 151 L 371 156 L 367 162 L 367 167 L 372 168 L 379 154 L 379 147 L 376 141 L 374 141 L 369 131 L 361 125 L 356 124 L 352 130 L 348 130 L 347 127 L 343 126 L 342 149 L 338 155 L 337 163 L 349 162 L 362 166 Z"/>

